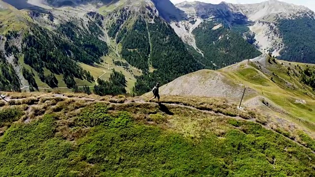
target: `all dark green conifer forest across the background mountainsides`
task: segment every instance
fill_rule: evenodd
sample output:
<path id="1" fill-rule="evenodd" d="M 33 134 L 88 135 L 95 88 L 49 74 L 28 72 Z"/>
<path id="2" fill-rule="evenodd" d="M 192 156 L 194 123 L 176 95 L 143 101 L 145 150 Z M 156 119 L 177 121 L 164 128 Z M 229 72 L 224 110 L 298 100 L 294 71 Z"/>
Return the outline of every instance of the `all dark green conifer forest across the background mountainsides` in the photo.
<path id="1" fill-rule="evenodd" d="M 214 28 L 221 22 L 207 21 L 192 31 L 202 55 L 185 44 L 161 17 L 155 16 L 152 8 L 146 8 L 151 13 L 144 11 L 139 16 L 133 16 L 133 12 L 126 7 L 116 10 L 109 24 L 104 23 L 104 16 L 89 12 L 85 15 L 90 19 L 87 22 L 72 17 L 53 30 L 30 22 L 30 28 L 25 33 L 8 31 L 4 35 L 5 39 L 2 39 L 5 54 L 1 54 L 0 89 L 18 90 L 21 81 L 14 66 L 23 59 L 32 68 L 21 67 L 22 75 L 32 89 L 38 90 L 35 80 L 38 76 L 41 82 L 51 88 L 57 88 L 64 82 L 67 88 L 76 92 L 90 93 L 89 87 L 78 87 L 75 82 L 77 79 L 87 80 L 91 84 L 95 82 L 95 78 L 79 62 L 88 65 L 102 63 L 101 58 L 113 52 L 104 40 L 107 34 L 117 45 L 121 45 L 121 51 L 118 52 L 126 60 L 121 62 L 113 59 L 114 64 L 142 70 L 141 76 L 134 76 L 136 83 L 133 92 L 137 95 L 150 91 L 157 82 L 164 85 L 190 72 L 204 68 L 220 69 L 261 54 L 251 45 L 254 40 L 252 35 L 246 34 L 247 39 L 242 37 L 241 34 L 249 30 L 245 25 Z M 280 20 L 278 25 L 286 47 L 281 58 L 296 60 L 296 56 L 300 56 L 301 62 L 313 62 L 315 52 L 311 43 L 315 35 L 312 35 L 314 32 L 311 29 L 315 27 L 315 20 L 300 18 L 292 23 L 290 20 Z M 306 31 L 303 33 L 308 33 L 310 37 L 301 38 L 298 31 Z M 14 45 L 17 38 L 22 38 L 21 47 Z M 8 63 L 5 58 L 10 56 L 13 62 Z M 60 75 L 62 79 L 58 80 L 56 76 Z M 125 94 L 126 89 L 122 88 L 126 87 L 126 79 L 121 76 L 122 73 L 115 71 L 111 79 L 120 78 L 118 80 L 123 84 L 115 80 L 98 80 L 95 93 Z"/>

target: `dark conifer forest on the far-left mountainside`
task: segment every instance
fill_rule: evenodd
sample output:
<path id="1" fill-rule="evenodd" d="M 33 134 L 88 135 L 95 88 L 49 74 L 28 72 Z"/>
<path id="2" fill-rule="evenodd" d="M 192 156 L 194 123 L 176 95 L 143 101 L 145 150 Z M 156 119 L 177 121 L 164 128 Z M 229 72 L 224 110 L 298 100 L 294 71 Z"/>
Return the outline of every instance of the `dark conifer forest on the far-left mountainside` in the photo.
<path id="1" fill-rule="evenodd" d="M 37 24 L 30 23 L 30 29 L 24 34 L 17 31 L 8 31 L 5 35 L 5 54 L 14 56 L 15 64 L 18 64 L 19 58 L 23 57 L 25 64 L 32 67 L 43 83 L 46 83 L 51 88 L 57 88 L 60 81 L 55 75 L 63 75 L 63 82 L 68 88 L 76 88 L 77 85 L 74 78 L 86 79 L 89 82 L 94 82 L 94 78 L 89 71 L 84 70 L 78 62 L 86 64 L 100 63 L 100 58 L 108 54 L 108 46 L 106 42 L 99 39 L 104 33 L 100 29 L 100 22 L 103 16 L 94 13 L 87 15 L 94 18 L 83 26 L 83 21 L 73 19 L 71 22 L 60 24 L 54 31 L 42 28 Z M 11 45 L 11 41 L 22 36 L 21 51 Z M 5 60 L 3 60 L 4 62 Z M 7 66 L 4 66 L 4 65 Z M 3 70 L 10 73 L 10 65 L 5 63 Z M 45 75 L 45 70 L 49 70 L 51 74 Z M 12 70 L 13 71 L 13 70 Z M 37 83 L 34 79 L 35 74 L 26 69 L 21 70 L 23 77 L 28 81 L 30 87 L 37 89 Z M 8 74 L 4 73 L 4 76 Z M 20 81 L 16 81 L 14 74 L 11 77 L 6 77 L 14 88 L 20 87 Z M 17 77 L 18 78 L 18 77 Z M 12 81 L 11 81 L 12 80 Z M 5 82 L 2 82 L 5 83 Z M 12 89 L 8 84 L 3 84 L 2 89 Z"/>

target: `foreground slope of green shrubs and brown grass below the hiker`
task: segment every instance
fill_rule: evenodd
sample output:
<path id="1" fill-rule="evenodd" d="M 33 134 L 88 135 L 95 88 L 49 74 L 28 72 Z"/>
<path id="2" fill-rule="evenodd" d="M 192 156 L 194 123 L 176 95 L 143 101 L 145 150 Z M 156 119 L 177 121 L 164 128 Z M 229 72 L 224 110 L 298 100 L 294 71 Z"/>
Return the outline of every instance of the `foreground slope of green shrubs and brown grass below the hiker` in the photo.
<path id="1" fill-rule="evenodd" d="M 1 176 L 314 176 L 315 141 L 224 100 L 7 93 Z M 184 106 L 186 105 L 186 106 Z M 260 123 L 259 123 L 260 122 Z M 290 134 L 290 133 L 288 133 Z"/>

